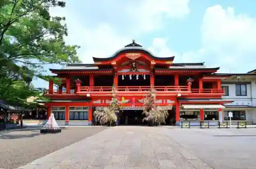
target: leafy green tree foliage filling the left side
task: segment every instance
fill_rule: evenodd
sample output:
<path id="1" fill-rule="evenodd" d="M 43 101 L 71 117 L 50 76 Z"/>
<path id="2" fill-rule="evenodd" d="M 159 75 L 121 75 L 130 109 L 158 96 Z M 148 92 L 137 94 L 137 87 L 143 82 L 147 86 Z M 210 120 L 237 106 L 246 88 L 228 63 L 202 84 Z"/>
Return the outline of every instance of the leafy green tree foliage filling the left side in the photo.
<path id="1" fill-rule="evenodd" d="M 24 103 L 41 92 L 30 83 L 42 77 L 44 65 L 80 62 L 79 46 L 65 43 L 65 17 L 49 13 L 65 5 L 55 0 L 0 1 L 0 99 Z"/>

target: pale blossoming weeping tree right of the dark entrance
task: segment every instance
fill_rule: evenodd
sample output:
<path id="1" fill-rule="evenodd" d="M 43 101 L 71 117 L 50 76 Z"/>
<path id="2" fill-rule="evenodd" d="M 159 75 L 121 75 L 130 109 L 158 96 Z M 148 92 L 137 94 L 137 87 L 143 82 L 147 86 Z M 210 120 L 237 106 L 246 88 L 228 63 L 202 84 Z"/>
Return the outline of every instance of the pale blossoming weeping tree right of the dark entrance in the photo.
<path id="1" fill-rule="evenodd" d="M 146 95 L 143 103 L 143 114 L 145 114 L 143 121 L 152 122 L 153 124 L 165 123 L 165 120 L 168 117 L 167 107 L 156 106 L 155 101 L 155 90 L 151 89 L 150 93 Z"/>

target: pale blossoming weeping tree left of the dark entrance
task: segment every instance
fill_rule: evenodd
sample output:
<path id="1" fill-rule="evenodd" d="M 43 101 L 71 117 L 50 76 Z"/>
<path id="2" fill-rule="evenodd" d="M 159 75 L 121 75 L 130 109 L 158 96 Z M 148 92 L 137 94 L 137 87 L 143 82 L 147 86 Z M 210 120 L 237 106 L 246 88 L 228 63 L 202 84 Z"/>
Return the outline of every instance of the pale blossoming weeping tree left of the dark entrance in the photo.
<path id="1" fill-rule="evenodd" d="M 94 116 L 101 125 L 106 123 L 112 124 L 117 121 L 116 115 L 119 113 L 119 110 L 120 106 L 118 104 L 117 90 L 116 87 L 113 86 L 110 106 L 104 108 L 103 110 L 94 111 Z"/>

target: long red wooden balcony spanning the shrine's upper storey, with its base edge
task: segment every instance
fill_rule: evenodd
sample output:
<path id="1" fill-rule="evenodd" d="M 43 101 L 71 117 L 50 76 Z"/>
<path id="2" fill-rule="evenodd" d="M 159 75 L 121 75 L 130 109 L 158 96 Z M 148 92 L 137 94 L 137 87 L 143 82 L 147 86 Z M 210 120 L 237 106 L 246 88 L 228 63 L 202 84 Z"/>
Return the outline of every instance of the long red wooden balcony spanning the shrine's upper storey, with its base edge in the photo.
<path id="1" fill-rule="evenodd" d="M 143 95 L 150 92 L 150 86 L 119 86 L 116 87 L 118 95 Z M 223 95 L 224 90 L 218 89 L 189 89 L 188 86 L 155 86 L 155 93 L 157 95 Z M 53 90 L 52 92 L 47 91 L 48 95 L 88 95 L 90 96 L 105 96 L 112 94 L 112 87 L 79 87 L 77 90 L 70 90 L 70 92 Z"/>

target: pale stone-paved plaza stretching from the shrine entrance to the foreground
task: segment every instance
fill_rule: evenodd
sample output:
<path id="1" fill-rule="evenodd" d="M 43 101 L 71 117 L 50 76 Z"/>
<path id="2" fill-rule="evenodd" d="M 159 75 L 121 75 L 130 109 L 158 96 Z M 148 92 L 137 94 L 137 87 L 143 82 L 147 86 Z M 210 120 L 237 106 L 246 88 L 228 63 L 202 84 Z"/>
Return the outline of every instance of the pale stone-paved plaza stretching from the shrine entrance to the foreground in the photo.
<path id="1" fill-rule="evenodd" d="M 255 128 L 118 126 L 19 168 L 256 168 L 255 139 Z"/>

